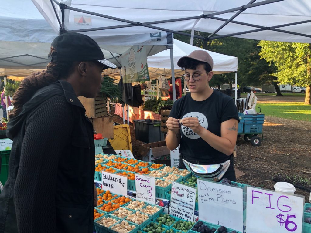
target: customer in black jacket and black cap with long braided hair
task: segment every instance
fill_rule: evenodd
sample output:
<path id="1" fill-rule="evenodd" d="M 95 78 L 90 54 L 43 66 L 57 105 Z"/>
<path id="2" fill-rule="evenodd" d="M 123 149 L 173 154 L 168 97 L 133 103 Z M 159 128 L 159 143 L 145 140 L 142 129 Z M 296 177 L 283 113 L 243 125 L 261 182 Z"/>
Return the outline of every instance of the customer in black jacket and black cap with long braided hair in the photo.
<path id="1" fill-rule="evenodd" d="M 55 38 L 48 58 L 47 69 L 26 77 L 13 96 L 0 233 L 93 231 L 93 126 L 78 96 L 94 98 L 102 70 L 116 66 L 78 33 Z"/>

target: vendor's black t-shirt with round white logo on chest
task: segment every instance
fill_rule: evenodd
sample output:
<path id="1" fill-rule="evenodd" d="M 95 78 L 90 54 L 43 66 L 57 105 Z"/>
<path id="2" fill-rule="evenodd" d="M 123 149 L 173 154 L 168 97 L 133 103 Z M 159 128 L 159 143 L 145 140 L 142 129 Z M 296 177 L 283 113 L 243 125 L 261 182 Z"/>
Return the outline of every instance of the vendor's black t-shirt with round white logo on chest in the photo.
<path id="1" fill-rule="evenodd" d="M 215 90 L 209 98 L 203 101 L 194 100 L 191 94 L 183 96 L 174 103 L 169 117 L 176 119 L 197 117 L 201 126 L 217 136 L 220 136 L 222 122 L 231 118 L 239 121 L 233 98 Z M 211 147 L 190 128 L 181 126 L 180 134 L 181 163 L 181 158 L 192 163 L 198 161 L 200 164 L 217 164 L 229 159 L 227 155 Z"/>

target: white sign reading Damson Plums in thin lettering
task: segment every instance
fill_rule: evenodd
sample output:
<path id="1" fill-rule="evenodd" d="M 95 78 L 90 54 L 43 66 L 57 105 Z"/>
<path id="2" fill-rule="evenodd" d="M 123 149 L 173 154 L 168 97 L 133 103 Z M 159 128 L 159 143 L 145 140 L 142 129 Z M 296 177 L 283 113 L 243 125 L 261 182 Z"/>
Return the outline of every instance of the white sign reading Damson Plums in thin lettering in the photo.
<path id="1" fill-rule="evenodd" d="M 243 232 L 243 189 L 197 179 L 199 218 Z"/>

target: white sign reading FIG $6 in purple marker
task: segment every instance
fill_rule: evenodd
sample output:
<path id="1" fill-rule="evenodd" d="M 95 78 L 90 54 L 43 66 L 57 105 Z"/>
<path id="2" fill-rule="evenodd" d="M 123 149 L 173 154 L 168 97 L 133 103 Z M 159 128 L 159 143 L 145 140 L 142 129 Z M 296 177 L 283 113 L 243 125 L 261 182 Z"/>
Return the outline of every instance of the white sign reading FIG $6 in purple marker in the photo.
<path id="1" fill-rule="evenodd" d="M 246 232 L 301 233 L 304 197 L 247 187 Z"/>

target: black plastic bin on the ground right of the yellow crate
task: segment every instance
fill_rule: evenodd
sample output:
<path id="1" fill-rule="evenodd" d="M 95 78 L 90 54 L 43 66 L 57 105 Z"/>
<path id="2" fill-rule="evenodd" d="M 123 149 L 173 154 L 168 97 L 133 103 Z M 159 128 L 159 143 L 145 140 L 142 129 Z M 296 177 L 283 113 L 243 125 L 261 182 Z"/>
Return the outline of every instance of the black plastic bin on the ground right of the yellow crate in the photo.
<path id="1" fill-rule="evenodd" d="M 163 141 L 164 133 L 161 132 L 161 121 L 143 119 L 134 120 L 136 140 L 144 143 Z"/>

